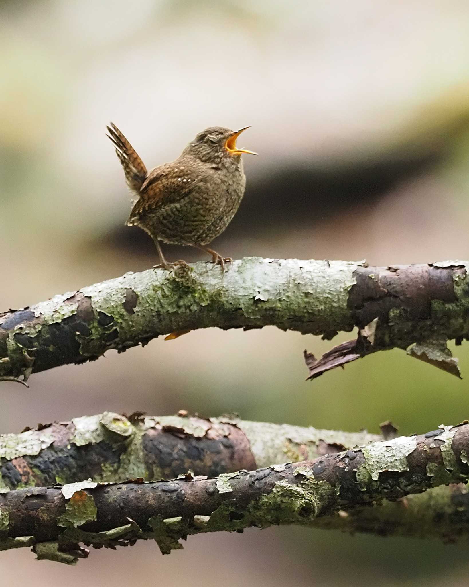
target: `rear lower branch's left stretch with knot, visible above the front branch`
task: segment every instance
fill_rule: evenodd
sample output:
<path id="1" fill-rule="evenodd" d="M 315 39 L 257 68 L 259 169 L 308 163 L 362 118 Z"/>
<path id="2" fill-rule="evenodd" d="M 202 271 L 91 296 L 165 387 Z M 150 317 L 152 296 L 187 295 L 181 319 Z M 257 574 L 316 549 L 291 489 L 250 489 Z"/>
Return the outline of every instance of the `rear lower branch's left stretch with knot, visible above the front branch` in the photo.
<path id="1" fill-rule="evenodd" d="M 233 417 L 129 417 L 111 412 L 0 435 L 0 493 L 19 487 L 216 477 L 302 461 L 379 440 L 374 434 L 249 422 Z"/>

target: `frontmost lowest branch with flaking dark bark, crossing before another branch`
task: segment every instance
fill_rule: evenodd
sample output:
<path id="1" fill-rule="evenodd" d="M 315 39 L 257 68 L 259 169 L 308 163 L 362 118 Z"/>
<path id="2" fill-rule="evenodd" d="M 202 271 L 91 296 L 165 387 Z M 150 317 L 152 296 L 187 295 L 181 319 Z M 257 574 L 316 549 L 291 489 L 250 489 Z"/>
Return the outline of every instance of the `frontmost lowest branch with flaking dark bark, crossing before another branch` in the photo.
<path id="1" fill-rule="evenodd" d="M 188 474 L 9 491 L 0 495 L 2 548 L 34 542 L 39 558 L 74 562 L 86 556 L 80 543 L 115 547 L 154 538 L 168 554 L 189 534 L 311 524 L 384 499 L 467 483 L 468 454 L 469 424 L 462 424 L 213 479 Z M 459 505 L 465 508 L 464 501 Z M 459 522 L 465 534 L 466 520 Z"/>

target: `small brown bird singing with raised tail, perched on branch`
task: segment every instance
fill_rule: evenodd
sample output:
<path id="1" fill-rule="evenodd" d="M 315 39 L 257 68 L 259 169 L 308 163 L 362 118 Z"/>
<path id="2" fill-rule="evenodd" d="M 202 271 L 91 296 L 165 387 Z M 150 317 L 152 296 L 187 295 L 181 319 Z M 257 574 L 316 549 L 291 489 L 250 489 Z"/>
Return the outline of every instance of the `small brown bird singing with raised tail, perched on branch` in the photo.
<path id="1" fill-rule="evenodd" d="M 241 154 L 257 155 L 236 146 L 237 137 L 246 129 L 249 126 L 236 132 L 209 127 L 175 161 L 147 171 L 117 126 L 111 123 L 107 127 L 127 185 L 138 195 L 125 224 L 143 228 L 154 240 L 159 254 L 159 265 L 155 266 L 171 269 L 187 265 L 185 261 L 168 263 L 159 241 L 202 249 L 223 271 L 225 263 L 232 261 L 206 245 L 222 234 L 242 200 L 246 176 Z"/>

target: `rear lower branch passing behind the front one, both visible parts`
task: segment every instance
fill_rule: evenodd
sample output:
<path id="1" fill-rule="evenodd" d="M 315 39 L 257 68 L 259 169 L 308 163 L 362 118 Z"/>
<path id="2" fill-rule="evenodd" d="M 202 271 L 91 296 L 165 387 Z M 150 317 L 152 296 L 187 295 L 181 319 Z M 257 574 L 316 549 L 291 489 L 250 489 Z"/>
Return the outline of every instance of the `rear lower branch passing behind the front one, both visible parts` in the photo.
<path id="1" fill-rule="evenodd" d="M 395 433 L 392 426 L 383 426 Z M 233 417 L 129 417 L 106 412 L 0 435 L 0 492 L 56 483 L 145 481 L 175 478 L 191 469 L 215 477 L 240 469 L 312 460 L 382 440 L 375 434 L 317 430 Z M 312 525 L 379 535 L 469 538 L 469 494 L 464 485 L 442 486 L 405 501 L 318 518 Z M 461 510 L 461 507 L 463 508 Z M 467 509 L 467 518 L 463 510 Z M 435 524 L 434 520 L 439 523 Z M 418 521 L 418 523 L 417 523 Z M 28 546 L 18 539 L 2 543 Z M 0 545 L 2 548 L 2 545 Z"/>

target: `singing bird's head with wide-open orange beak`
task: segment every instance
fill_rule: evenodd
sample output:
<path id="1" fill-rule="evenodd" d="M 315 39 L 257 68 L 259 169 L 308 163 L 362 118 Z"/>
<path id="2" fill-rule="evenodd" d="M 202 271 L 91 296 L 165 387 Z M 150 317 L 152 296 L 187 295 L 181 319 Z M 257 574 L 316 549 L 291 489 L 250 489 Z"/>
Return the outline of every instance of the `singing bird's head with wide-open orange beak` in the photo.
<path id="1" fill-rule="evenodd" d="M 183 154 L 192 155 L 216 166 L 223 163 L 236 166 L 236 164 L 240 163 L 243 153 L 257 155 L 254 151 L 240 149 L 236 146 L 236 139 L 246 129 L 249 129 L 249 126 L 236 131 L 225 129 L 222 126 L 210 126 L 208 129 L 202 130 L 188 144 Z"/>

